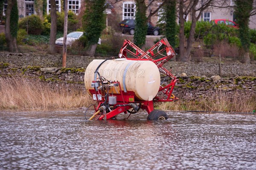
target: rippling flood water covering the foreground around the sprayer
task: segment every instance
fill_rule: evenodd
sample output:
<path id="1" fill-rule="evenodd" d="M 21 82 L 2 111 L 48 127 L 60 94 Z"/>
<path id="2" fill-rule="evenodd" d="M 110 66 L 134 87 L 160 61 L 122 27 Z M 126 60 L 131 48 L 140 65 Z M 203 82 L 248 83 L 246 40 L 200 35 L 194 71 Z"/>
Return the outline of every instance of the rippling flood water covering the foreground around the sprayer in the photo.
<path id="1" fill-rule="evenodd" d="M 256 169 L 255 115 L 168 115 L 85 121 L 79 110 L 1 112 L 0 169 Z"/>

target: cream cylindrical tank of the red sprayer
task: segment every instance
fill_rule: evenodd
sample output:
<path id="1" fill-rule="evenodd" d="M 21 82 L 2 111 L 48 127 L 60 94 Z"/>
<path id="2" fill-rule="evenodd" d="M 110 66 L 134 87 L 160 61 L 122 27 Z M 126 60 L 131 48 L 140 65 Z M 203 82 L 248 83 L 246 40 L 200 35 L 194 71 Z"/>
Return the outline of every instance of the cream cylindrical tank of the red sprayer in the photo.
<path id="1" fill-rule="evenodd" d="M 95 80 L 96 68 L 104 60 L 93 60 L 86 68 L 84 84 L 87 92 Z M 152 61 L 135 61 L 119 58 L 105 61 L 98 69 L 108 81 L 119 81 L 123 91 L 133 91 L 138 99 L 151 101 L 160 87 L 160 73 Z M 97 80 L 99 76 L 97 75 Z"/>

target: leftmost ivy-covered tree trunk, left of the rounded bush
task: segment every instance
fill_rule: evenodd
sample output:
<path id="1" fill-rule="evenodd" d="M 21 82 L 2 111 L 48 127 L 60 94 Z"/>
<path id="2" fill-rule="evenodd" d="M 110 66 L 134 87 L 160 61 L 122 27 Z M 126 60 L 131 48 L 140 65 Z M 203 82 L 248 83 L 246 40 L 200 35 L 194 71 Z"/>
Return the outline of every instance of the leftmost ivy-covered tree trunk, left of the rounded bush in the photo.
<path id="1" fill-rule="evenodd" d="M 6 9 L 6 27 L 5 27 L 5 36 L 6 43 L 9 51 L 18 52 L 17 48 L 17 25 L 18 25 L 18 14 L 15 14 L 14 11 L 17 8 L 17 0 L 8 0 L 8 5 Z M 17 22 L 15 21 L 17 20 Z M 12 24 L 11 24 L 12 21 Z M 12 25 L 12 26 L 11 26 Z M 15 28 L 16 26 L 16 28 Z"/>

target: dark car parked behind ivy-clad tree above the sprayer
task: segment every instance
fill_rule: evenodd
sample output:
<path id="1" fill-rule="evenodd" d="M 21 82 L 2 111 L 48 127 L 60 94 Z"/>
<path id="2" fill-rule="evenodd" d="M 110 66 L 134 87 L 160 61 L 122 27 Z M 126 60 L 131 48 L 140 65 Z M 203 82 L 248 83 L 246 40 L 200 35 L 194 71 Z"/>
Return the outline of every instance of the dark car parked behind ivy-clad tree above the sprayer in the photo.
<path id="1" fill-rule="evenodd" d="M 134 35 L 135 20 L 132 20 L 132 19 L 123 20 L 119 23 L 119 26 L 123 34 L 125 34 L 126 32 L 129 32 L 129 34 Z M 148 23 L 148 34 L 160 35 L 159 27 L 151 26 L 151 24 Z"/>

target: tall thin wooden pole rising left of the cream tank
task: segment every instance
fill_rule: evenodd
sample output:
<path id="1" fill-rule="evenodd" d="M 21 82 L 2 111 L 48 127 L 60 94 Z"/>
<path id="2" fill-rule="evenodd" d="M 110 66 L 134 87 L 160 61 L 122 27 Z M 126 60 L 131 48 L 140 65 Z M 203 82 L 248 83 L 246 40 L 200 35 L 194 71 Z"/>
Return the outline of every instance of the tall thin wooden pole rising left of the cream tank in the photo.
<path id="1" fill-rule="evenodd" d="M 68 0 L 64 0 L 65 3 L 65 17 L 64 17 L 64 39 L 63 39 L 63 52 L 62 52 L 62 67 L 66 68 L 66 60 L 67 60 L 67 12 L 68 12 Z"/>

